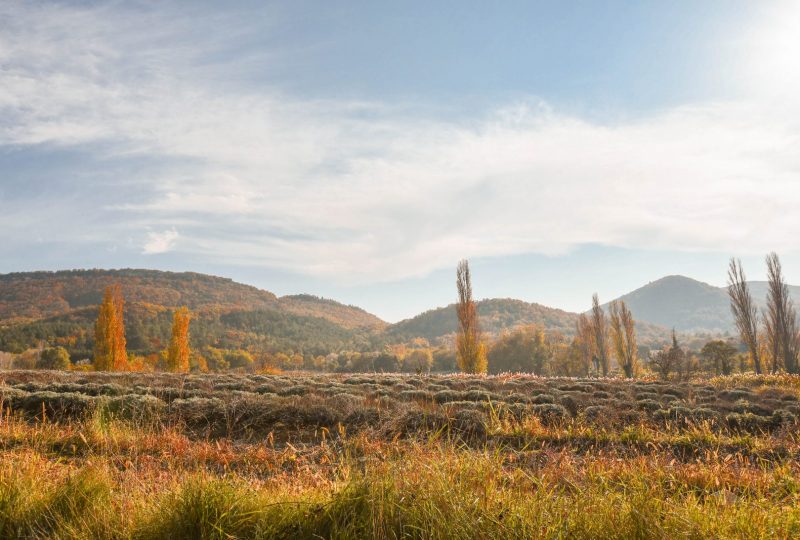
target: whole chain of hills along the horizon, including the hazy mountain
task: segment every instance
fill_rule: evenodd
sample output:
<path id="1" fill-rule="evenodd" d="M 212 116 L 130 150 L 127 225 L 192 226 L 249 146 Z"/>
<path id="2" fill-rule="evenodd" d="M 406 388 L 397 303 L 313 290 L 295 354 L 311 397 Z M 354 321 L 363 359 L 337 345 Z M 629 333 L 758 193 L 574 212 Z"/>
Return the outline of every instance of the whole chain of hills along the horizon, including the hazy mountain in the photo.
<path id="1" fill-rule="evenodd" d="M 320 354 L 379 349 L 416 338 L 449 343 L 457 328 L 453 304 L 389 324 L 358 306 L 312 294 L 279 297 L 226 277 L 130 268 L 0 274 L 0 328 L 6 334 L 16 331 L 15 348 L 29 345 L 37 336 L 68 341 L 78 334 L 88 349 L 92 310 L 112 283 L 122 287 L 131 315 L 130 341 L 142 350 L 152 350 L 166 339 L 171 309 L 180 305 L 196 313 L 194 333 L 203 337 L 203 343 L 227 347 Z M 754 295 L 760 294 L 763 283 L 753 282 L 753 289 Z M 672 327 L 682 332 L 731 331 L 725 288 L 686 276 L 665 276 L 620 298 L 633 311 L 642 342 L 663 342 Z M 487 298 L 477 305 L 482 328 L 490 337 L 529 324 L 569 336 L 578 317 L 515 298 Z M 4 342 L 0 335 L 0 349 L 3 343 L 9 339 Z"/>

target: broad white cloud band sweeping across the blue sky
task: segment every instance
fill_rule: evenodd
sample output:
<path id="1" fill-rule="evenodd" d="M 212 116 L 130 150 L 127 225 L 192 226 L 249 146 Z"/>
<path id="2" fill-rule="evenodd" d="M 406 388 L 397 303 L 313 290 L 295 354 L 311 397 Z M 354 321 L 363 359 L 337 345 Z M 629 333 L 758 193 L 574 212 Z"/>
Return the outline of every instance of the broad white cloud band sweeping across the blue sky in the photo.
<path id="1" fill-rule="evenodd" d="M 170 27 L 152 45 L 158 17 L 129 15 L 0 8 L 16 21 L 0 38 L 0 145 L 101 144 L 108 160 L 156 160 L 114 180 L 137 184 L 137 201 L 104 204 L 116 220 L 109 240 L 131 226 L 180 226 L 180 246 L 175 229 L 149 232 L 144 253 L 375 281 L 585 243 L 796 249 L 793 101 L 698 104 L 603 125 L 532 100 L 454 124 L 220 86 L 232 68 L 165 46 L 214 30 Z"/>

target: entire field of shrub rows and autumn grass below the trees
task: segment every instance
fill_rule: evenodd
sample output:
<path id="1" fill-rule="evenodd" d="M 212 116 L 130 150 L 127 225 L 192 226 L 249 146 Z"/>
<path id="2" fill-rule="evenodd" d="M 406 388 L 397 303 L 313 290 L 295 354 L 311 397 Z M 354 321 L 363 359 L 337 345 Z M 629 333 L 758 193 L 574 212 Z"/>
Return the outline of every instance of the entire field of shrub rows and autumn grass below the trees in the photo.
<path id="1" fill-rule="evenodd" d="M 798 377 L 0 384 L 0 538 L 800 536 Z"/>

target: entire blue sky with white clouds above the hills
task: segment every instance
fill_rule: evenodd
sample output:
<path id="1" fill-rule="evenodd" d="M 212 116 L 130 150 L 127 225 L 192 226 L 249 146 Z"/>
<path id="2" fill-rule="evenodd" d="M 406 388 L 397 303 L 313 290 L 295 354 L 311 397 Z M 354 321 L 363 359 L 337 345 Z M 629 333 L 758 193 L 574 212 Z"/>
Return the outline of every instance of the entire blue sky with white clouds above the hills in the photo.
<path id="1" fill-rule="evenodd" d="M 800 283 L 800 2 L 0 2 L 0 273 L 206 272 L 397 321 Z"/>

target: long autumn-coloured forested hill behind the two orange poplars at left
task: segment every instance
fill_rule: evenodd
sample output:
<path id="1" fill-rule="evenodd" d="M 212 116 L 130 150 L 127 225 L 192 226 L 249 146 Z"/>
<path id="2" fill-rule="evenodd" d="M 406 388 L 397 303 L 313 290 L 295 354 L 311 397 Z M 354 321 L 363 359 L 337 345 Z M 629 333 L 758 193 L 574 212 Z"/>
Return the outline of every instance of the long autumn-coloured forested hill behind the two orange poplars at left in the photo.
<path id="1" fill-rule="evenodd" d="M 283 297 L 227 278 L 157 270 L 69 270 L 0 275 L 0 350 L 40 341 L 90 355 L 104 289 L 119 284 L 126 301 L 129 350 L 146 354 L 169 338 L 172 309 L 194 313 L 193 346 L 325 354 L 366 349 L 385 323 L 360 308 L 309 295 Z"/>

